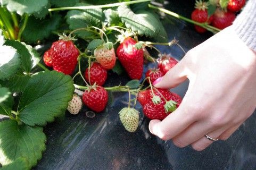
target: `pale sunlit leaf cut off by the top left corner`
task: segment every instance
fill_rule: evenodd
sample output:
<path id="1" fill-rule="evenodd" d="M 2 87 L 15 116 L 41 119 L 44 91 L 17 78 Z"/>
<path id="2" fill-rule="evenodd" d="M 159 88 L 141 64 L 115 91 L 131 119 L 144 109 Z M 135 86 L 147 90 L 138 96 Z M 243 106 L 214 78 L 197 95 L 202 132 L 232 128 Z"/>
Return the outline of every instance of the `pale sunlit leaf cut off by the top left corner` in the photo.
<path id="1" fill-rule="evenodd" d="M 20 15 L 24 13 L 32 14 L 39 12 L 48 3 L 47 0 L 2 0 L 1 3 L 6 5 L 11 12 L 16 12 Z"/>

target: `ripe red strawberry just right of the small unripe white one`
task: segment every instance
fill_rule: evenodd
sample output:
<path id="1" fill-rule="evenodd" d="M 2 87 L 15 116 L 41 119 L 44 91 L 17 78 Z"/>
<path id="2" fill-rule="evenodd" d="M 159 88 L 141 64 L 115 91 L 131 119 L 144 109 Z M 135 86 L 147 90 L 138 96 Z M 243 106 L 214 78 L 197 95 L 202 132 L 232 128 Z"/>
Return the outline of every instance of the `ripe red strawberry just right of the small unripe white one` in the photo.
<path id="1" fill-rule="evenodd" d="M 101 112 L 108 104 L 108 92 L 101 86 L 92 86 L 82 94 L 84 104 L 95 112 Z"/>

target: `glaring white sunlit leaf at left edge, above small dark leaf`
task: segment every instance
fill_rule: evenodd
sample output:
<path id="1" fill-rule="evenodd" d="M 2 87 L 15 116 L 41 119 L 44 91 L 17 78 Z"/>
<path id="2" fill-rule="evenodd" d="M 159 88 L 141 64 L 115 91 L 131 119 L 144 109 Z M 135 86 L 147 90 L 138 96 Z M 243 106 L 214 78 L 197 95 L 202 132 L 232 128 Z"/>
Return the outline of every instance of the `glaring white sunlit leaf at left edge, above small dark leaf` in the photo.
<path id="1" fill-rule="evenodd" d="M 15 74 L 21 65 L 20 55 L 16 49 L 4 45 L 5 40 L 0 29 L 0 79 L 5 80 Z"/>

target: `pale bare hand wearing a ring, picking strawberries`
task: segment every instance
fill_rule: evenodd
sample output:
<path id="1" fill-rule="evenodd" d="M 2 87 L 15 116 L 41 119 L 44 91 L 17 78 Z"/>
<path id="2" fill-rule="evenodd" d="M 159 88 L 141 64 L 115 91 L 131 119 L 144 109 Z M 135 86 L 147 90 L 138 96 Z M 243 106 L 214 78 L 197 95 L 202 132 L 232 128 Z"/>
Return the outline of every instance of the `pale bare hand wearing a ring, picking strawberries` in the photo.
<path id="1" fill-rule="evenodd" d="M 232 26 L 231 26 L 232 27 Z M 256 106 L 256 53 L 229 27 L 189 50 L 156 88 L 174 88 L 189 79 L 181 105 L 163 121 L 152 120 L 151 133 L 177 147 L 207 148 L 226 140 Z"/>

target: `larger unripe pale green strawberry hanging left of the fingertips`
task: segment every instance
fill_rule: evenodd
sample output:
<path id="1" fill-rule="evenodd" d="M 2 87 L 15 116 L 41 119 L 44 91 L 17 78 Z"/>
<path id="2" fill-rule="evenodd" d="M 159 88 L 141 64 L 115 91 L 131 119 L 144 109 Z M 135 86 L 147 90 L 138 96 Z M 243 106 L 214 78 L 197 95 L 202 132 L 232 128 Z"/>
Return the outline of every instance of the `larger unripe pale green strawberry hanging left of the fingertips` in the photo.
<path id="1" fill-rule="evenodd" d="M 119 118 L 128 132 L 135 132 L 139 125 L 139 112 L 134 108 L 125 107 L 119 112 Z"/>

